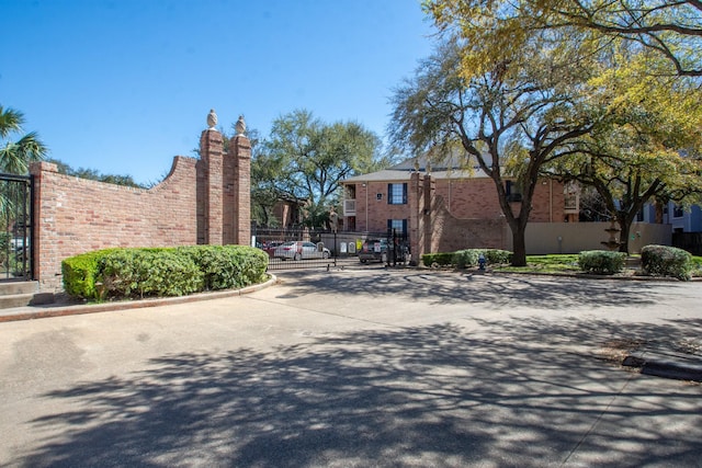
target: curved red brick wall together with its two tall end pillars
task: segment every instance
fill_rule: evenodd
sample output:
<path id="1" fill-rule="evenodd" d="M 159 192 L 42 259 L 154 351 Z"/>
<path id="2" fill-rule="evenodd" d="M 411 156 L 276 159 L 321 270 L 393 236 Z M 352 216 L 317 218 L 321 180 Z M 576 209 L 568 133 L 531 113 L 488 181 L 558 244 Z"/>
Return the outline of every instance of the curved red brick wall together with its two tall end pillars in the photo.
<path id="1" fill-rule="evenodd" d="M 177 247 L 250 242 L 248 138 L 231 155 L 222 135 L 203 132 L 201 160 L 176 157 L 157 186 L 133 189 L 61 175 L 56 164 L 32 164 L 34 277 L 42 290 L 61 288 L 61 261 L 111 247 Z"/>

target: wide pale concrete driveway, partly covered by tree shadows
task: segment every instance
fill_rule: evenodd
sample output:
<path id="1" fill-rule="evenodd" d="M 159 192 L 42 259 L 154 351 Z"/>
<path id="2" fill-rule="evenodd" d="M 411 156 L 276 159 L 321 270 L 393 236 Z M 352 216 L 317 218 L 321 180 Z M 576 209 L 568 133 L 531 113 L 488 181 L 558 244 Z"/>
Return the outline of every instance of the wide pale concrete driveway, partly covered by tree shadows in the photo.
<path id="1" fill-rule="evenodd" d="M 701 466 L 702 284 L 382 267 L 0 323 L 2 467 Z"/>

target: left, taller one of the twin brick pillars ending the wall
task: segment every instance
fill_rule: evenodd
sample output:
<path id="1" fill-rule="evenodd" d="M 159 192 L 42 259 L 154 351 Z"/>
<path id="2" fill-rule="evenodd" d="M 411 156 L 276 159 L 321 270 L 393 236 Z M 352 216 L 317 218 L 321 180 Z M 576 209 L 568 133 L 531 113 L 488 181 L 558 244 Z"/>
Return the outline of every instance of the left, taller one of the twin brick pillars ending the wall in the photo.
<path id="1" fill-rule="evenodd" d="M 200 158 L 197 182 L 199 241 L 206 244 L 224 243 L 224 145 L 222 134 L 214 128 L 206 129 L 200 137 Z"/>

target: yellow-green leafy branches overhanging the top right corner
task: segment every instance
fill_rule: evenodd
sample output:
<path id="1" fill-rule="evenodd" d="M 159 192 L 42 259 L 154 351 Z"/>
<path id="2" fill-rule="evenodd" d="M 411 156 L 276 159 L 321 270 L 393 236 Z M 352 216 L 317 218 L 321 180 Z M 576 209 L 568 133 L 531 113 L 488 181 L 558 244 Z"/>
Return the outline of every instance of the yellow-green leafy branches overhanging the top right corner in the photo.
<path id="1" fill-rule="evenodd" d="M 665 58 L 668 73 L 702 76 L 699 0 L 424 0 L 423 5 L 440 28 L 465 39 L 468 68 L 520 55 L 535 31 L 567 30 L 586 33 L 581 39 L 595 48 L 623 41 L 647 49 Z"/>

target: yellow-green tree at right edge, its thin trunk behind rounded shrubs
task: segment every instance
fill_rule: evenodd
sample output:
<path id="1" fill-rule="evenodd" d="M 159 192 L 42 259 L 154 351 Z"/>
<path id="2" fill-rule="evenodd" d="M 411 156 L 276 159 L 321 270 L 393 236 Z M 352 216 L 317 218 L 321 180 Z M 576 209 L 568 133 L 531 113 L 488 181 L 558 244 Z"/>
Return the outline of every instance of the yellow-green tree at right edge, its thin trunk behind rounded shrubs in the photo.
<path id="1" fill-rule="evenodd" d="M 619 224 L 623 252 L 646 203 L 697 201 L 702 191 L 702 92 L 692 79 L 652 75 L 659 61 L 625 44 L 610 54 L 588 82 L 591 105 L 610 118 L 547 168 L 598 192 Z"/>

